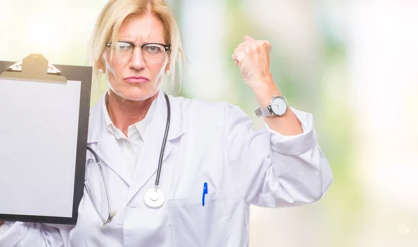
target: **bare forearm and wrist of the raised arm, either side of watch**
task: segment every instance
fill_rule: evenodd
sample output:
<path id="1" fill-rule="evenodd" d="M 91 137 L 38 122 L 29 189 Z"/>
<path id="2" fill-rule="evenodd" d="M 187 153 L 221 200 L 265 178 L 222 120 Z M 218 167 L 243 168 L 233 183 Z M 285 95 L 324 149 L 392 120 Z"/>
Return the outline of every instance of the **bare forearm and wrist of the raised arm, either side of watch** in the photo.
<path id="1" fill-rule="evenodd" d="M 252 86 L 251 88 L 261 107 L 268 106 L 273 96 L 281 96 L 281 92 L 276 84 L 274 84 L 272 77 L 269 76 L 263 80 L 264 83 L 257 83 L 256 86 Z M 303 132 L 300 121 L 290 108 L 280 117 L 265 117 L 264 120 L 270 129 L 284 136 L 295 136 Z"/>

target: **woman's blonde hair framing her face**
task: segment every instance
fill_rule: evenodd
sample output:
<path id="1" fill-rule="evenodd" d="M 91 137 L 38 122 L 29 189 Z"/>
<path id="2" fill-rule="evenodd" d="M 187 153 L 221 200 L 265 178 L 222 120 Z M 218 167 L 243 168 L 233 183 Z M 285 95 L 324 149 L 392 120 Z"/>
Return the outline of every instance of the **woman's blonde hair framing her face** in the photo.
<path id="1" fill-rule="evenodd" d="M 164 0 L 110 0 L 104 6 L 93 29 L 90 40 L 89 63 L 93 66 L 93 83 L 98 86 L 99 67 L 104 67 L 102 55 L 106 42 L 117 42 L 118 30 L 123 21 L 129 17 L 152 13 L 162 21 L 165 31 L 165 42 L 171 45 L 169 50 L 170 85 L 178 77 L 182 77 L 182 61 L 184 58 L 181 46 L 180 31 L 173 13 Z"/>

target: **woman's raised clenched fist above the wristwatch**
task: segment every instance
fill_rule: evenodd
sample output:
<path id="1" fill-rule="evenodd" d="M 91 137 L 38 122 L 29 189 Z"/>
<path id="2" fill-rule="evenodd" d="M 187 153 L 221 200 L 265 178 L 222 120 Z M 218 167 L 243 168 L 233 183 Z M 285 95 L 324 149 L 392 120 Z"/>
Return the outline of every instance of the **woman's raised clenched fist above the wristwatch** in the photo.
<path id="1" fill-rule="evenodd" d="M 254 40 L 245 36 L 232 54 L 235 65 L 238 65 L 242 79 L 251 88 L 258 87 L 265 81 L 272 81 L 270 73 L 270 42 Z"/>

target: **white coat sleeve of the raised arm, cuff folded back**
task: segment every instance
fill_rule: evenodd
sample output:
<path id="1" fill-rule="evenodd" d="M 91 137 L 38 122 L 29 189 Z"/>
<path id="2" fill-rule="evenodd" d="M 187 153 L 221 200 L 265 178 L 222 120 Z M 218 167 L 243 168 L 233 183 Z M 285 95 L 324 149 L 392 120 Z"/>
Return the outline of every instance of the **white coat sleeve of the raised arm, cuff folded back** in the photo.
<path id="1" fill-rule="evenodd" d="M 256 131 L 237 106 L 226 111 L 226 157 L 233 180 L 247 204 L 289 207 L 323 198 L 333 181 L 317 143 L 310 113 L 291 108 L 303 133 L 283 136 L 268 127 Z"/>

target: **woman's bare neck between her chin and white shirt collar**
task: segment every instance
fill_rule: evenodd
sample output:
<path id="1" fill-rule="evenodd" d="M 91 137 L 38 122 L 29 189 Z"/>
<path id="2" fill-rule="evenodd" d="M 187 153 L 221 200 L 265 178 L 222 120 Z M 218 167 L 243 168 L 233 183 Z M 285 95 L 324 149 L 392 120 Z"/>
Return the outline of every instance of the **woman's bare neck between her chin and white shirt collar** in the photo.
<path id="1" fill-rule="evenodd" d="M 128 100 L 123 99 L 112 90 L 109 90 L 107 96 L 107 112 L 109 112 L 111 122 L 127 136 L 127 128 L 145 118 L 151 104 L 153 104 L 154 99 L 157 97 L 158 93 L 149 99 L 140 101 Z"/>

